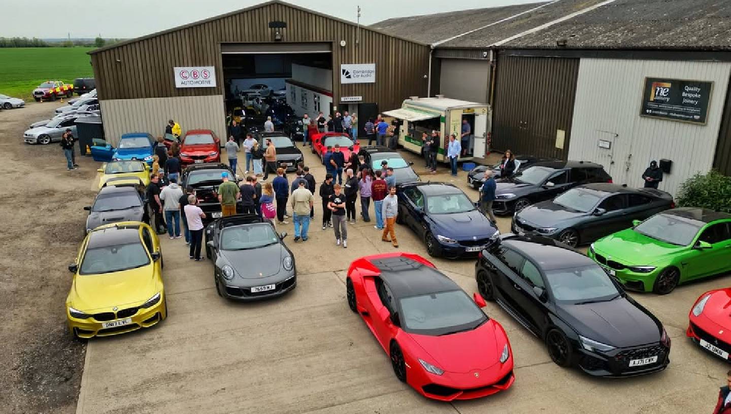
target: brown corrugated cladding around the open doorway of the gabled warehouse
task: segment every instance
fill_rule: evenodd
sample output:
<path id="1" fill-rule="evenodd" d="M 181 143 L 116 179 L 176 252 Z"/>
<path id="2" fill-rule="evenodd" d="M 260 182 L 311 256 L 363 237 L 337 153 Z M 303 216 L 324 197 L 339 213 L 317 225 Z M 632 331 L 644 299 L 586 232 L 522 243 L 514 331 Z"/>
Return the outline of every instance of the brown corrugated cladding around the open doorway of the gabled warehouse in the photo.
<path id="1" fill-rule="evenodd" d="M 382 110 L 425 96 L 429 47 L 281 2 L 183 26 L 99 50 L 91 55 L 100 99 L 223 95 L 221 43 L 266 42 L 276 48 L 268 23 L 287 23 L 284 42 L 333 42 L 333 94 L 363 96 Z M 341 40 L 346 46 L 339 45 Z M 276 49 L 274 49 L 276 50 Z M 340 84 L 341 64 L 376 63 L 376 83 Z M 173 67 L 216 66 L 216 88 L 175 88 Z"/>

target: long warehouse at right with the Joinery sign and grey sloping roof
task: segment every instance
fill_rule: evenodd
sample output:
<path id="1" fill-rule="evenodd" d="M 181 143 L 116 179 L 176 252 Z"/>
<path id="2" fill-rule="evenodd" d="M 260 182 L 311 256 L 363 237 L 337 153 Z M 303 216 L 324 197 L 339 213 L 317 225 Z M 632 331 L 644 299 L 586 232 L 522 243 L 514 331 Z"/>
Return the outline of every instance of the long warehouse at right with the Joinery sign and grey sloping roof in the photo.
<path id="1" fill-rule="evenodd" d="M 431 45 L 431 94 L 493 105 L 494 150 L 598 162 L 631 186 L 664 159 L 670 193 L 731 175 L 727 2 L 558 0 L 373 27 Z"/>

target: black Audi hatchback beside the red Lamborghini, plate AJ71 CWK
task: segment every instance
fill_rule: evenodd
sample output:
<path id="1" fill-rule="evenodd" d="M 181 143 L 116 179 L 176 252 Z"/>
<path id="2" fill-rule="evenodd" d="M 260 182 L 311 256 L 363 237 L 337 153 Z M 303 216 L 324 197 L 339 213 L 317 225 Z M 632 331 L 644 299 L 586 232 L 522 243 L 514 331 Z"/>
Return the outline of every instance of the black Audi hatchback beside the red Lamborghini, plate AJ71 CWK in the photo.
<path id="1" fill-rule="evenodd" d="M 545 341 L 553 362 L 627 377 L 670 363 L 662 323 L 598 264 L 545 237 L 504 237 L 475 264 L 480 294 Z"/>

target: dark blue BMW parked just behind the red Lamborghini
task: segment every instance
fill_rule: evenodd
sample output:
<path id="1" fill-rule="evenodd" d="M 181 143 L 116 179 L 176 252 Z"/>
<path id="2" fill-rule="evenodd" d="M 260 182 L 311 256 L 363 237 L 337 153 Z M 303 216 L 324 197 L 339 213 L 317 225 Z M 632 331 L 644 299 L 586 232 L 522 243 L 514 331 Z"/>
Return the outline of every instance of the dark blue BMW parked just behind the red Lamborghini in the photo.
<path id="1" fill-rule="evenodd" d="M 447 183 L 401 185 L 397 219 L 424 240 L 433 257 L 477 255 L 500 234 L 463 191 Z"/>

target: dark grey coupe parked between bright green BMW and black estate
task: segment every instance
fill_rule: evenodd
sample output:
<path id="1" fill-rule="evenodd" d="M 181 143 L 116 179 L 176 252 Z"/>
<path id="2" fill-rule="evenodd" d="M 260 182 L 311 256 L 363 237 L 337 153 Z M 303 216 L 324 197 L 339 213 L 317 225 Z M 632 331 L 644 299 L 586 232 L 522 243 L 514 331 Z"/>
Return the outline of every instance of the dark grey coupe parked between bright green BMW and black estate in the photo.
<path id="1" fill-rule="evenodd" d="M 516 234 L 539 234 L 576 247 L 673 207 L 673 196 L 654 188 L 586 184 L 516 212 L 511 228 Z"/>

